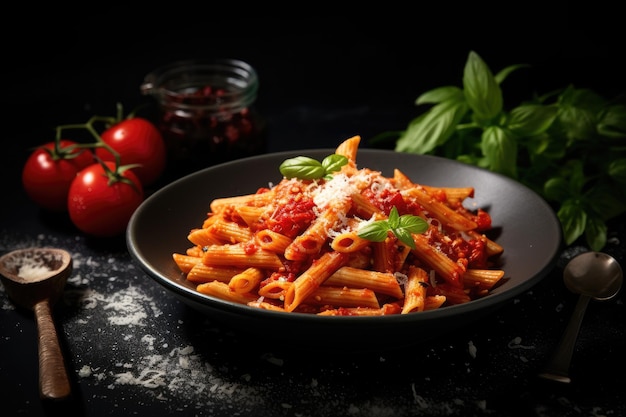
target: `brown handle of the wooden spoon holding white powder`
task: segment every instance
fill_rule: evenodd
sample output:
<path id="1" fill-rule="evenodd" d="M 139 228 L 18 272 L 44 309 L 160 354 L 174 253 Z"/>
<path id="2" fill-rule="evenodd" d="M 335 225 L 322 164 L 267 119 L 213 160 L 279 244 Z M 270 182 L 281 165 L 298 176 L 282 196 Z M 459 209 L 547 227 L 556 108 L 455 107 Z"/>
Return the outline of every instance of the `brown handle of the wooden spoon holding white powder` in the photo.
<path id="1" fill-rule="evenodd" d="M 42 398 L 63 399 L 70 395 L 70 383 L 48 300 L 33 307 L 39 336 L 39 390 Z"/>

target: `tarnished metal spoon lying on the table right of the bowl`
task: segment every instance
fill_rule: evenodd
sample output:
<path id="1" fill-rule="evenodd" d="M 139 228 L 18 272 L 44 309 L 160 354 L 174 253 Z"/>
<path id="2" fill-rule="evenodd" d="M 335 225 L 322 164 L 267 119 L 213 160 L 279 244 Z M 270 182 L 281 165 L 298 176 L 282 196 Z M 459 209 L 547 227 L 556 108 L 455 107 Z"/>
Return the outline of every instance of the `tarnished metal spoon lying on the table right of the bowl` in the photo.
<path id="1" fill-rule="evenodd" d="M 550 362 L 540 377 L 571 382 L 569 365 L 585 310 L 591 298 L 599 301 L 613 298 L 622 287 L 623 273 L 619 263 L 601 252 L 585 252 L 569 261 L 563 271 L 565 286 L 580 294 L 572 317 Z"/>

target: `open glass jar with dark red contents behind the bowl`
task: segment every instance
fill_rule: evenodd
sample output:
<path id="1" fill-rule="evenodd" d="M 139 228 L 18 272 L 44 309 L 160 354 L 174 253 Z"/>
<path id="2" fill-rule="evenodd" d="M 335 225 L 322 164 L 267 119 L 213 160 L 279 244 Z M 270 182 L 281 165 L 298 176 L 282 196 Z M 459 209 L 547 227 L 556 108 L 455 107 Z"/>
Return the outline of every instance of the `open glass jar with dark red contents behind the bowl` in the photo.
<path id="1" fill-rule="evenodd" d="M 158 103 L 171 175 L 265 151 L 266 123 L 254 105 L 259 79 L 246 62 L 174 62 L 146 75 L 140 89 Z"/>

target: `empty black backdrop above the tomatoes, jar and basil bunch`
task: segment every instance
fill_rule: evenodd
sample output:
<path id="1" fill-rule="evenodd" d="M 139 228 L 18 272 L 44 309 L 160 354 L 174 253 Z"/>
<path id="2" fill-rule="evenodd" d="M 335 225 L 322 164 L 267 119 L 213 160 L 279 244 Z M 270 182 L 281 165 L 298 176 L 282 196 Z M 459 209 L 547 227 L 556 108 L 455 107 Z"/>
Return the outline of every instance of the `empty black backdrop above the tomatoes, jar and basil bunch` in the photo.
<path id="1" fill-rule="evenodd" d="M 335 146 L 354 134 L 367 142 L 403 129 L 418 112 L 419 94 L 461 85 L 470 50 L 494 73 L 531 65 L 503 84 L 505 104 L 568 84 L 607 97 L 626 90 L 626 44 L 612 23 L 621 15 L 614 6 L 421 3 L 373 10 L 375 18 L 356 11 L 233 18 L 240 13 L 184 3 L 89 13 L 37 8 L 36 18 L 16 15 L 16 27 L 2 29 L 4 142 L 25 157 L 22 150 L 52 139 L 56 125 L 114 115 L 117 102 L 127 111 L 149 102 L 139 91 L 143 77 L 179 59 L 237 58 L 257 69 L 270 151 Z"/>

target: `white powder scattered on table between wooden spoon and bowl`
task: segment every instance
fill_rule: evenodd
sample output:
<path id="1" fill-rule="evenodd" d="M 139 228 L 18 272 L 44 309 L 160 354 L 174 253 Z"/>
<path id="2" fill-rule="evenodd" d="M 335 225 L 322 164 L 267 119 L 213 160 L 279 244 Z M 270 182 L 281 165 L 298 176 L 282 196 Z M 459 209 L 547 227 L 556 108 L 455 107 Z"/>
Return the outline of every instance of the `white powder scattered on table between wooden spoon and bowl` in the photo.
<path id="1" fill-rule="evenodd" d="M 74 334 L 84 335 L 85 339 L 77 343 L 93 343 L 96 324 L 96 335 L 108 334 L 102 340 L 108 343 L 116 340 L 108 349 L 121 352 L 120 360 L 115 363 L 97 362 L 98 355 L 93 355 L 91 363 L 83 359 L 76 371 L 81 378 L 105 384 L 110 390 L 122 386 L 145 389 L 164 403 L 183 398 L 189 404 L 203 407 L 208 403 L 230 401 L 251 406 L 262 401 L 263 396 L 256 388 L 247 386 L 243 377 L 241 383 L 223 379 L 222 372 L 215 372 L 193 346 L 171 348 L 169 343 L 161 342 L 165 337 L 159 333 L 172 329 L 163 326 L 167 318 L 162 317 L 157 302 L 141 288 L 129 285 L 110 294 L 93 288 L 66 293 L 66 299 L 77 303 L 87 315 L 80 321 L 79 328 L 72 330 Z M 158 321 L 161 321 L 160 326 Z M 119 337 L 111 337 L 111 333 Z"/>

